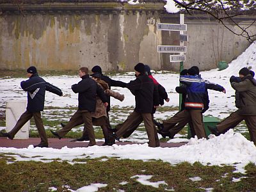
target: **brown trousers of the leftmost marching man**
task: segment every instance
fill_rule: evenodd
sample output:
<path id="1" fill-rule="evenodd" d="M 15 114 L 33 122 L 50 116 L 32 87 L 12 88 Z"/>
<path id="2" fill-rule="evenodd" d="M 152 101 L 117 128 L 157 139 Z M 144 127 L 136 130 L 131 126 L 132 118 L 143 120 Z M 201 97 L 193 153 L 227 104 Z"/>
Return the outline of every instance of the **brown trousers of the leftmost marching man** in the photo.
<path id="1" fill-rule="evenodd" d="M 26 124 L 26 122 L 28 122 L 28 120 L 30 120 L 32 118 L 32 116 L 34 117 L 35 120 L 35 124 L 36 124 L 36 128 L 38 130 L 38 134 L 41 138 L 41 143 L 44 145 L 48 145 L 48 140 L 47 140 L 47 136 L 46 136 L 46 132 L 44 129 L 44 124 L 43 124 L 43 120 L 41 118 L 41 112 L 29 112 L 29 111 L 25 111 L 19 118 L 17 124 L 13 127 L 12 131 L 8 132 L 10 134 L 10 136 L 13 138 L 15 136 L 15 134 L 17 134 L 18 131 L 20 131 L 21 127 L 23 127 L 23 125 Z"/>

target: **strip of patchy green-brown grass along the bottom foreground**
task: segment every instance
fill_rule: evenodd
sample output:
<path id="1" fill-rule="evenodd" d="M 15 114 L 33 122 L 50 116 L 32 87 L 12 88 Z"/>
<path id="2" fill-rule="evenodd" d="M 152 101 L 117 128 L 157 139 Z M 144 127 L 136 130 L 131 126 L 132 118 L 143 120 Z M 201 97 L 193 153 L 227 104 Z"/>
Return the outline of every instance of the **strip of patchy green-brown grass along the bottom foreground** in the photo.
<path id="1" fill-rule="evenodd" d="M 180 163 L 175 166 L 163 161 L 138 161 L 131 159 L 108 161 L 97 159 L 74 159 L 75 164 L 66 161 L 42 163 L 35 161 L 19 161 L 7 164 L 0 159 L 0 189 L 2 191 L 48 191 L 55 187 L 63 191 L 62 186 L 68 185 L 76 190 L 91 183 L 108 184 L 99 191 L 205 191 L 200 188 L 214 188 L 215 191 L 254 191 L 256 188 L 254 164 L 246 166 L 247 174 L 233 173 L 232 166 L 203 166 L 200 163 Z M 79 162 L 85 162 L 80 164 Z M 76 163 L 77 162 L 77 163 Z M 227 174 L 227 177 L 223 175 Z M 159 188 L 146 186 L 131 178 L 134 175 L 153 175 L 150 182 L 165 181 L 167 185 Z M 232 182 L 233 177 L 247 177 L 239 182 Z M 191 177 L 202 180 L 193 182 Z M 8 178 L 8 179 L 6 179 Z M 120 182 L 128 182 L 125 185 Z"/>

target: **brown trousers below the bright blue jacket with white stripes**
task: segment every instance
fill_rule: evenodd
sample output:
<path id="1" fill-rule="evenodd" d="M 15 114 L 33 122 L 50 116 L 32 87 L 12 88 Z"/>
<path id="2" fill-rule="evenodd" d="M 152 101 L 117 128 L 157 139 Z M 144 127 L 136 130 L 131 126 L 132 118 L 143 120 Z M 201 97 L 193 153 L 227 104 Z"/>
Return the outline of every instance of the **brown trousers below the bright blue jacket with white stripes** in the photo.
<path id="1" fill-rule="evenodd" d="M 184 109 L 179 111 L 172 118 L 163 121 L 163 132 L 170 132 L 170 136 L 173 137 L 177 134 L 186 124 L 189 123 L 192 136 L 200 138 L 207 138 L 204 129 L 203 116 L 201 110 L 196 109 Z"/>

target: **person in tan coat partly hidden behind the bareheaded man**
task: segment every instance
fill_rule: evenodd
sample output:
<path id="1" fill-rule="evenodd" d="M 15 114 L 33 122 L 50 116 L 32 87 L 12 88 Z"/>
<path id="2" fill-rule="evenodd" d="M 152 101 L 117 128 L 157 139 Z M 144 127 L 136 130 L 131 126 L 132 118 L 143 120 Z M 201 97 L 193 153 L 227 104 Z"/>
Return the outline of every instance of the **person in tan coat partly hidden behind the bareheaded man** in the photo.
<path id="1" fill-rule="evenodd" d="M 109 95 L 111 97 L 114 97 L 115 99 L 118 99 L 120 101 L 124 100 L 124 95 L 118 93 L 118 92 L 113 92 L 112 90 L 109 90 L 109 86 L 108 83 L 106 83 L 105 81 L 103 81 L 101 79 L 101 74 L 100 73 L 94 73 L 91 75 L 92 79 L 94 81 L 96 81 L 97 84 L 99 84 L 99 86 L 104 90 L 104 93 L 106 95 Z M 77 120 L 77 125 L 81 125 L 83 124 L 83 120 Z M 100 126 L 104 135 L 104 139 L 105 139 L 105 143 L 103 143 L 104 145 L 113 145 L 115 144 L 115 140 L 113 138 L 109 138 L 109 124 L 108 124 L 108 115 L 107 115 L 107 111 L 106 111 L 106 107 L 104 106 L 102 100 L 96 96 L 96 108 L 95 111 L 92 113 L 92 124 L 95 126 Z M 88 132 L 86 131 L 86 129 L 84 129 L 83 131 L 83 136 L 81 136 L 81 138 L 77 138 L 74 140 L 71 140 L 72 142 L 74 141 L 84 141 L 84 136 L 88 135 Z"/>

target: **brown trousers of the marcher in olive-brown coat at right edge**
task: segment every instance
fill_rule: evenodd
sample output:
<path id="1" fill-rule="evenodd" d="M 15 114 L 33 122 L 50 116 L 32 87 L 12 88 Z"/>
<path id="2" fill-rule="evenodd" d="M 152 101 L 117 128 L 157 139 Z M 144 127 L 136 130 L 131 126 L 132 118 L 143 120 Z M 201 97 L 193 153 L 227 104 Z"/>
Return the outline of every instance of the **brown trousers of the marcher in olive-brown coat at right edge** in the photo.
<path id="1" fill-rule="evenodd" d="M 248 127 L 250 140 L 256 145 L 256 115 L 240 115 L 238 111 L 235 111 L 217 124 L 217 129 L 221 133 L 225 133 L 229 129 L 236 127 L 242 120 L 245 121 Z"/>

